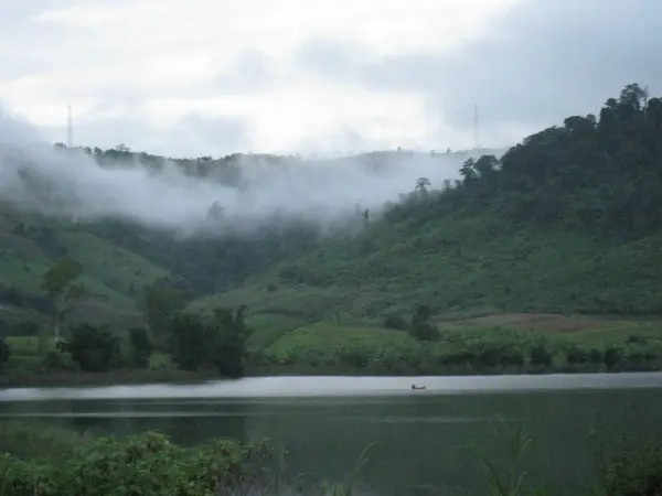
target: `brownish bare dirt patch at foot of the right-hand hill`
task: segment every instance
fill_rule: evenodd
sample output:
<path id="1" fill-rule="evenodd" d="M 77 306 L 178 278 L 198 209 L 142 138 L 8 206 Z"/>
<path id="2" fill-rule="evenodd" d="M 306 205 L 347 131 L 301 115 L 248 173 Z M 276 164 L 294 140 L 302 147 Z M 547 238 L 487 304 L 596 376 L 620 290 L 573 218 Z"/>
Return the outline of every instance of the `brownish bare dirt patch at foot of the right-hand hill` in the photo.
<path id="1" fill-rule="evenodd" d="M 572 333 L 604 326 L 600 321 L 575 315 L 557 315 L 553 313 L 508 313 L 465 319 L 440 323 L 444 327 L 491 327 L 503 326 L 521 330 Z"/>

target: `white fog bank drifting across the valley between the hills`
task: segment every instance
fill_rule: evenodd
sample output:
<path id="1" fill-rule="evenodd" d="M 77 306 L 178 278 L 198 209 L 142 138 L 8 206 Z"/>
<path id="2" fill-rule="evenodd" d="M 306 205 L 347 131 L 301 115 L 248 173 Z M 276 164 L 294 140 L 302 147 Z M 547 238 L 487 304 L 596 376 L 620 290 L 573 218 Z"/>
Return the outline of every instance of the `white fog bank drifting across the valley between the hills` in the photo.
<path id="1" fill-rule="evenodd" d="M 244 155 L 239 190 L 185 175 L 171 161 L 158 173 L 138 164 L 102 168 L 82 151 L 54 149 L 20 116 L 0 109 L 2 201 L 77 222 L 114 218 L 186 237 L 256 231 L 276 215 L 331 226 L 355 216 L 357 207 L 397 202 L 420 176 L 441 187 L 468 157 L 389 152 L 375 168 L 356 157 L 273 163 Z M 209 216 L 215 202 L 221 220 Z"/>

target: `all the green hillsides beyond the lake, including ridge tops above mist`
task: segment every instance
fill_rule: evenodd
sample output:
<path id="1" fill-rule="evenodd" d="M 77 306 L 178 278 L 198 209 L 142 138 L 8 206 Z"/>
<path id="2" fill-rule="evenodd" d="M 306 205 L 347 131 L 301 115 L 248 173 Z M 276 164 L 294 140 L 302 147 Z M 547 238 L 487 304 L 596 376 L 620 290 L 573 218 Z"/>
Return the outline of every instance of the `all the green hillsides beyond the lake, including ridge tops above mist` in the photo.
<path id="1" fill-rule="evenodd" d="M 158 171 L 164 162 L 125 147 L 83 152 L 105 168 Z M 126 222 L 76 224 L 6 206 L 3 319 L 47 313 L 41 277 L 65 255 L 84 266 L 92 298 L 81 305 L 93 305 L 97 321 L 140 319 L 143 287 L 156 280 L 197 305 L 247 304 L 253 313 L 312 320 L 381 320 L 413 304 L 438 314 L 660 313 L 661 153 L 662 100 L 628 85 L 597 117 L 568 117 L 500 160 L 466 160 L 461 180 L 413 177 L 402 202 L 370 217 L 357 212 L 351 235 L 289 222 L 259 236 L 181 240 Z M 298 159 L 259 160 L 277 168 Z M 376 153 L 362 163 L 378 171 L 388 160 Z M 246 186 L 239 155 L 177 164 Z"/>

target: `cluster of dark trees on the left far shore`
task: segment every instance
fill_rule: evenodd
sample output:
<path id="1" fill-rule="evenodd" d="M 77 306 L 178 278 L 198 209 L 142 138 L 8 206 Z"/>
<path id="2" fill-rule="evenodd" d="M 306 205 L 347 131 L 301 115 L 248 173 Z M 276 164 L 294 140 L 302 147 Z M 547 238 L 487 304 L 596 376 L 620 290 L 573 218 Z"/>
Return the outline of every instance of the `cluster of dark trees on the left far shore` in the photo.
<path id="1" fill-rule="evenodd" d="M 168 280 L 159 280 L 143 288 L 141 308 L 146 325 L 128 330 L 122 343 L 108 326 L 67 322 L 74 304 L 88 296 L 81 283 L 82 274 L 83 266 L 64 257 L 42 277 L 42 288 L 50 301 L 52 334 L 46 338 L 43 363 L 46 368 L 86 373 L 148 368 L 152 353 L 160 351 L 182 370 L 213 367 L 222 376 L 243 376 L 250 334 L 244 321 L 245 306 L 236 311 L 191 311 L 180 291 Z M 10 347 L 0 338 L 0 371 L 9 358 Z"/>

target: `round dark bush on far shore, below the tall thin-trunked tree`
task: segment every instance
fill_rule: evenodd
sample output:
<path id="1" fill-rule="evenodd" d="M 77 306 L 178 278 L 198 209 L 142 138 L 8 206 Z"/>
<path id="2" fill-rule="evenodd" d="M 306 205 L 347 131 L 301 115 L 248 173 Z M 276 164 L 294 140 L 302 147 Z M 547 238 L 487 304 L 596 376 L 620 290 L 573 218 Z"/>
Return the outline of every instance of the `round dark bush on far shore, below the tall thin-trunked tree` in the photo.
<path id="1" fill-rule="evenodd" d="M 71 337 L 61 349 L 71 353 L 81 370 L 102 373 L 119 365 L 119 337 L 105 327 L 83 323 L 71 328 Z"/>

